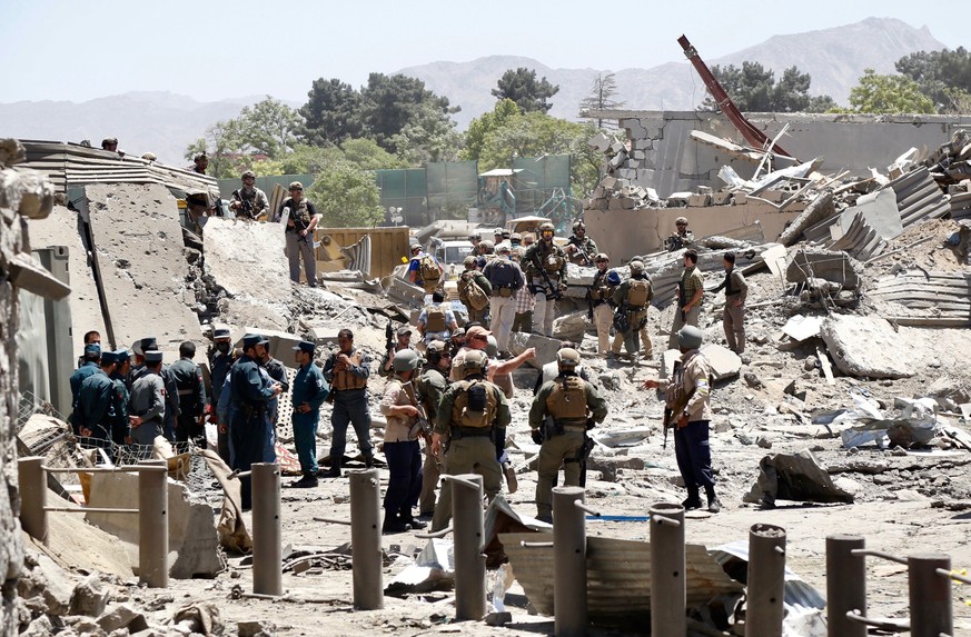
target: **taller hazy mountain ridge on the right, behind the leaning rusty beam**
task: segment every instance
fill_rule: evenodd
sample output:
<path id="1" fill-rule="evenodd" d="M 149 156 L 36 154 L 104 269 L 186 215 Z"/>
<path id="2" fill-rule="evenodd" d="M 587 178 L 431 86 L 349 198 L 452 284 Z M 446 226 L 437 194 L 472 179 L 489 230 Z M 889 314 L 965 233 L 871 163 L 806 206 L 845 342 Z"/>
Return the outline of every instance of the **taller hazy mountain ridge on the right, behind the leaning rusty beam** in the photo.
<path id="1" fill-rule="evenodd" d="M 691 39 L 691 32 L 686 34 Z M 846 103 L 850 89 L 856 84 L 863 69 L 892 73 L 894 62 L 903 56 L 944 48 L 927 27 L 915 29 L 892 18 L 868 18 L 845 27 L 773 36 L 761 44 L 722 58 L 705 58 L 704 42 L 692 43 L 709 66 L 740 66 L 749 60 L 773 69 L 776 77 L 796 66 L 812 76 L 813 94 L 829 94 L 840 103 Z M 674 40 L 671 46 L 678 48 Z M 581 100 L 600 72 L 596 69 L 551 69 L 532 58 L 513 56 L 489 56 L 470 62 L 433 62 L 400 72 L 424 80 L 429 89 L 460 106 L 462 112 L 455 117 L 465 128 L 472 118 L 493 108 L 495 98 L 489 91 L 506 70 L 517 67 L 535 69 L 537 76 L 559 84 L 559 92 L 551 100 L 551 113 L 569 119 L 576 118 Z M 616 81 L 617 99 L 632 110 L 692 110 L 705 97 L 704 84 L 687 61 L 650 69 L 625 68 L 616 71 Z"/>

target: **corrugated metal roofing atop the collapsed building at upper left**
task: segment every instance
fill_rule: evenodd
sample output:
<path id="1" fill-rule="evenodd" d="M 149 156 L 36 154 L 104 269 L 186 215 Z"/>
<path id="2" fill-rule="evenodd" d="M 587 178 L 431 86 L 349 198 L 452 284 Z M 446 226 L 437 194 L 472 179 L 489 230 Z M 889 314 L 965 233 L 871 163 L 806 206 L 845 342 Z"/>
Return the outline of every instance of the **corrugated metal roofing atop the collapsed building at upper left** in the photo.
<path id="1" fill-rule="evenodd" d="M 27 161 L 18 168 L 37 170 L 51 180 L 57 192 L 65 195 L 71 186 L 90 183 L 160 183 L 179 193 L 207 192 L 219 197 L 216 179 L 181 168 L 162 166 L 140 157 L 120 157 L 115 152 L 59 141 L 20 140 Z"/>

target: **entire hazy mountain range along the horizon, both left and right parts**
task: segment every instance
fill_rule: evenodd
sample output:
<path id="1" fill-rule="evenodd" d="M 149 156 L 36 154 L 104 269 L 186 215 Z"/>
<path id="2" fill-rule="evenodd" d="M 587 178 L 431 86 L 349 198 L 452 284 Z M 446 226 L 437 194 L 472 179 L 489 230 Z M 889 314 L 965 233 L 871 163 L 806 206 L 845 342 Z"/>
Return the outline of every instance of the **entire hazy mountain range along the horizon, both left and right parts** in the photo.
<path id="1" fill-rule="evenodd" d="M 688 33 L 690 36 L 690 33 Z M 672 47 L 677 42 L 672 41 Z M 773 36 L 760 44 L 721 58 L 704 57 L 704 42 L 693 42 L 709 66 L 741 66 L 745 60 L 761 62 L 781 76 L 796 66 L 812 77 L 810 92 L 829 94 L 846 103 L 850 89 L 872 68 L 879 73 L 894 72 L 894 62 L 915 51 L 944 48 L 927 27 L 916 29 L 892 18 L 868 18 L 861 22 L 819 31 Z M 624 50 L 618 47 L 618 50 Z M 636 50 L 631 47 L 627 50 Z M 630 57 L 627 62 L 636 61 Z M 455 120 L 460 129 L 493 108 L 491 90 L 508 69 L 526 67 L 546 77 L 559 91 L 551 99 L 551 115 L 576 119 L 579 102 L 589 92 L 594 78 L 606 70 L 553 69 L 538 60 L 515 56 L 489 56 L 468 62 L 432 62 L 399 72 L 425 81 L 428 89 L 448 97 L 462 107 Z M 628 67 L 615 72 L 618 94 L 630 110 L 692 110 L 705 97 L 705 88 L 687 61 L 667 62 L 652 68 Z M 166 163 L 186 163 L 186 147 L 220 119 L 236 117 L 244 106 L 262 96 L 248 96 L 215 102 L 162 91 L 136 91 L 98 98 L 81 103 L 71 101 L 20 101 L 0 103 L 0 137 L 81 141 L 99 146 L 103 137 L 118 137 L 120 148 L 141 155 L 155 152 Z M 299 106 L 291 102 L 290 106 Z"/>

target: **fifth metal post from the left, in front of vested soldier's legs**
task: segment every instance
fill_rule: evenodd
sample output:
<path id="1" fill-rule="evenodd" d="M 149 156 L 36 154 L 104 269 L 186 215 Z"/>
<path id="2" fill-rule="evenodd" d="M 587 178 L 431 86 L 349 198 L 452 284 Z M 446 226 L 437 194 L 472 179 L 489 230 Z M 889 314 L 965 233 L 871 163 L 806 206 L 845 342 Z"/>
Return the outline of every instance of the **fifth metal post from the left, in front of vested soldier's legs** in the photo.
<path id="1" fill-rule="evenodd" d="M 455 529 L 455 618 L 478 621 L 486 611 L 482 476 L 465 474 L 456 478 L 449 480 Z"/>

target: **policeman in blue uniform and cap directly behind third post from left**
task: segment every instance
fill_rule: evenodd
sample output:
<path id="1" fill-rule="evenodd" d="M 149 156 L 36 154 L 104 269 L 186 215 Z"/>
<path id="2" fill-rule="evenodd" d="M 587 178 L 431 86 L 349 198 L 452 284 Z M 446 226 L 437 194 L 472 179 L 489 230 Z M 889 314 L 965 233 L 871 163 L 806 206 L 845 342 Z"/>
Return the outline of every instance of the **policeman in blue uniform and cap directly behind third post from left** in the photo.
<path id="1" fill-rule="evenodd" d="M 266 462 L 267 421 L 269 401 L 284 388 L 273 382 L 260 369 L 269 341 L 255 334 L 242 337 L 242 356 L 232 366 L 229 376 L 229 436 L 232 468 L 248 471 L 254 462 Z M 252 491 L 249 478 L 240 478 L 242 509 L 249 510 Z"/>

